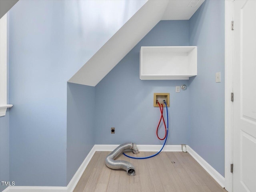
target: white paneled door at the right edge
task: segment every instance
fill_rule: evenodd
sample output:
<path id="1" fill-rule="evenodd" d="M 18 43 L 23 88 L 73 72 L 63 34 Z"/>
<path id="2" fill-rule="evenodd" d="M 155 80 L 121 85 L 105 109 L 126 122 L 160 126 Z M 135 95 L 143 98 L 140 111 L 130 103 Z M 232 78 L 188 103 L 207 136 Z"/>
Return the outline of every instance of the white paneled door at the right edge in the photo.
<path id="1" fill-rule="evenodd" d="M 234 1 L 233 191 L 256 192 L 256 0 Z"/>

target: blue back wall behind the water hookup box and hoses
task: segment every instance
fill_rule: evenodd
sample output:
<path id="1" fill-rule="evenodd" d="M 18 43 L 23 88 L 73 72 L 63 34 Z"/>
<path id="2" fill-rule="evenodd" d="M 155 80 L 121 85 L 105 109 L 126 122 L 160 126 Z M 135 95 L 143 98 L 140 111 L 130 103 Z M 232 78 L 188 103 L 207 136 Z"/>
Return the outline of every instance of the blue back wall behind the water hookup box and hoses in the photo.
<path id="1" fill-rule="evenodd" d="M 96 86 L 96 144 L 161 144 L 156 137 L 159 108 L 154 92 L 170 93 L 167 144 L 187 143 L 189 90 L 175 92 L 188 80 L 140 80 L 141 46 L 188 46 L 188 20 L 160 21 Z M 115 127 L 115 134 L 110 128 Z M 164 132 L 160 129 L 160 136 Z"/>

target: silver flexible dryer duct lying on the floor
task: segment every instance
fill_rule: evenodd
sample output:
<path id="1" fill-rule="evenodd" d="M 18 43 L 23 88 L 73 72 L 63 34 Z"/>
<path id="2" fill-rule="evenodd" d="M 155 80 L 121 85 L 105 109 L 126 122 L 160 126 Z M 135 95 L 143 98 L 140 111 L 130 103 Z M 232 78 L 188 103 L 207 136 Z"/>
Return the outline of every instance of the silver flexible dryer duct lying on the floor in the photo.
<path id="1" fill-rule="evenodd" d="M 124 160 L 114 160 L 120 153 L 122 153 L 126 149 L 132 149 L 134 154 L 138 154 L 139 150 L 135 143 L 124 143 L 118 146 L 114 151 L 112 151 L 105 160 L 105 164 L 110 169 L 123 169 L 126 170 L 128 175 L 134 176 L 135 175 L 135 168 L 134 166 L 129 163 L 128 161 Z"/>

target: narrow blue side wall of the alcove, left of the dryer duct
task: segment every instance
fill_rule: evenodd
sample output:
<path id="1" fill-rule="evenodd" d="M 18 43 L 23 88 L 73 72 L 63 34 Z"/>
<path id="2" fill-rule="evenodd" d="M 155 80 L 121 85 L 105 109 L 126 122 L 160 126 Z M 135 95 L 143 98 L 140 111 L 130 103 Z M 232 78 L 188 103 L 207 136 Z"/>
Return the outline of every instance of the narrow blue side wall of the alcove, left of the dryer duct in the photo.
<path id="1" fill-rule="evenodd" d="M 68 83 L 67 185 L 94 146 L 95 87 Z"/>

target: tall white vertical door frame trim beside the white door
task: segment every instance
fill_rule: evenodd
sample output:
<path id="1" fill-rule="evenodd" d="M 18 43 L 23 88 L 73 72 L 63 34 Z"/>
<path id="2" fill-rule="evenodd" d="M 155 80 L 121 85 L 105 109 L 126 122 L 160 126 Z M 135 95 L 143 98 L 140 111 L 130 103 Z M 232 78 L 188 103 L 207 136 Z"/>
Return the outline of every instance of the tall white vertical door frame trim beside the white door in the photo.
<path id="1" fill-rule="evenodd" d="M 230 93 L 233 92 L 233 0 L 225 0 L 225 189 L 233 191 L 233 175 L 230 164 L 233 162 L 233 103 Z"/>

